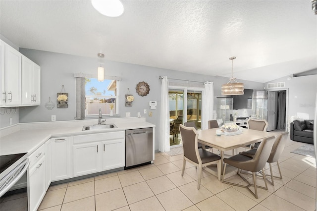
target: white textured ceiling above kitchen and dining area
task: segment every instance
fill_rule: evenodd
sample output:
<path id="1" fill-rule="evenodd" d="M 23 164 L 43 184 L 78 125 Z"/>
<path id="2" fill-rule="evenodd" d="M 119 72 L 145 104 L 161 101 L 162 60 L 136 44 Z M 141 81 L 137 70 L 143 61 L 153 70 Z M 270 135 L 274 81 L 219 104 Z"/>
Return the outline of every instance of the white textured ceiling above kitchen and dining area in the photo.
<path id="1" fill-rule="evenodd" d="M 0 34 L 20 48 L 267 82 L 317 68 L 310 0 L 0 0 Z"/>

